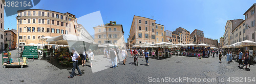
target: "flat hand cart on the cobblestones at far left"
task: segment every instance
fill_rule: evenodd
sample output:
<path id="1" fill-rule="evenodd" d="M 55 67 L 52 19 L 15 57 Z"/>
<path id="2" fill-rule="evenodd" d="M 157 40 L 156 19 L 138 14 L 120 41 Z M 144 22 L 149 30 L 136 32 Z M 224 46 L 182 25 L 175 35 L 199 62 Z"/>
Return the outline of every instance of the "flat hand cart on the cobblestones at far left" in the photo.
<path id="1" fill-rule="evenodd" d="M 6 68 L 6 66 L 20 66 L 20 68 L 23 68 L 23 66 L 27 66 L 29 61 L 28 58 L 11 58 L 6 55 L 6 53 L 2 53 L 2 65 L 3 68 Z"/>

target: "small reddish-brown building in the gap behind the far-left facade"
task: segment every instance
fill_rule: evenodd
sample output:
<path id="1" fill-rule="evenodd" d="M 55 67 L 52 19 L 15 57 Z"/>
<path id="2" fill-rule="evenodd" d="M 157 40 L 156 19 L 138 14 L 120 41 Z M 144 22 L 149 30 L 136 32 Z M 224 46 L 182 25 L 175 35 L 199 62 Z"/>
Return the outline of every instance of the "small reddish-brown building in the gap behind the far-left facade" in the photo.
<path id="1" fill-rule="evenodd" d="M 5 49 L 8 48 L 8 44 L 10 49 L 16 48 L 16 37 L 15 31 L 9 30 L 9 28 L 5 30 Z"/>

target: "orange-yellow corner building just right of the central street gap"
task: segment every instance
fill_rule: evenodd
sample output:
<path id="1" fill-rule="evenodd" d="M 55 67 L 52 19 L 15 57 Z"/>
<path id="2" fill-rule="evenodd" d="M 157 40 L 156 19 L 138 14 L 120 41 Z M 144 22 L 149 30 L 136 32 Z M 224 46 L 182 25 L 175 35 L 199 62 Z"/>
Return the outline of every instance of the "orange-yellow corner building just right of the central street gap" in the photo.
<path id="1" fill-rule="evenodd" d="M 156 20 L 134 16 L 130 29 L 129 46 L 139 43 L 156 44 L 164 41 L 164 25 L 156 24 Z"/>

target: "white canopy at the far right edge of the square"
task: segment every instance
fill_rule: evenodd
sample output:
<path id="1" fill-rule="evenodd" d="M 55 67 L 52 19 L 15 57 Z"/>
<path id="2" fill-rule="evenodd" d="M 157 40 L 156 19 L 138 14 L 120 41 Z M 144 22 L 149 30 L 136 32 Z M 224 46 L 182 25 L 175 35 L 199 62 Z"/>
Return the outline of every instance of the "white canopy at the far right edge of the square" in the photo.
<path id="1" fill-rule="evenodd" d="M 247 46 L 256 46 L 256 43 L 254 41 L 244 40 L 244 41 L 234 44 L 234 46 L 239 47 L 239 48 L 247 47 Z"/>

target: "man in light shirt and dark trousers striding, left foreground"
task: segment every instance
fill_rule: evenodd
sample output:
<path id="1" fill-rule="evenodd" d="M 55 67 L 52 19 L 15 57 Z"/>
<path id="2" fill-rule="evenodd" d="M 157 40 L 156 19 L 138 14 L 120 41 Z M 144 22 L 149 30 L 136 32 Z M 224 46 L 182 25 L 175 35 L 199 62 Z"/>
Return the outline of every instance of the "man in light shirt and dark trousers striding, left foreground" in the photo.
<path id="1" fill-rule="evenodd" d="M 73 56 L 71 56 L 72 61 L 73 61 L 73 68 L 72 68 L 72 72 L 71 72 L 70 76 L 68 76 L 68 78 L 74 77 L 75 69 L 77 69 L 77 71 L 79 73 L 79 75 L 77 75 L 77 76 L 81 76 L 82 75 L 82 73 L 81 73 L 81 71 L 80 71 L 80 69 L 78 67 L 78 59 L 80 58 L 80 55 L 76 52 L 75 48 L 72 48 L 71 50 L 72 50 L 72 53 L 73 53 Z"/>

